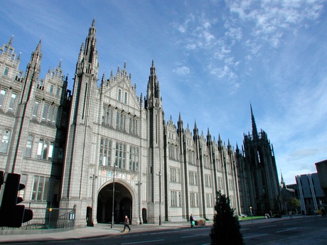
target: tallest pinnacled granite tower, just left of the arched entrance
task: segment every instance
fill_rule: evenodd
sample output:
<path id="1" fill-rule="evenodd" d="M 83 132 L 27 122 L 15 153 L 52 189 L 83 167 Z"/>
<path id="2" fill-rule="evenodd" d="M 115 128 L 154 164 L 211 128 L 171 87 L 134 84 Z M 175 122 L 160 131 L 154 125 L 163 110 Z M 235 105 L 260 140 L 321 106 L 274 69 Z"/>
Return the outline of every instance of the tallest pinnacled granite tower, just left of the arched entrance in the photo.
<path id="1" fill-rule="evenodd" d="M 68 124 L 60 207 L 76 207 L 75 225 L 86 225 L 88 165 L 92 149 L 92 117 L 97 89 L 98 61 L 95 20 L 80 48 Z"/>

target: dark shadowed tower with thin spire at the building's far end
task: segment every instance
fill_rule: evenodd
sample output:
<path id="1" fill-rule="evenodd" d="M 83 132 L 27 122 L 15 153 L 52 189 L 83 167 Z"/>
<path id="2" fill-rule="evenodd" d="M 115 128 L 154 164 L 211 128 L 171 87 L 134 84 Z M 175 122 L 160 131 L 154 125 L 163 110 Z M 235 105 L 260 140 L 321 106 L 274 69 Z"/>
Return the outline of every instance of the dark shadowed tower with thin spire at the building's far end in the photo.
<path id="1" fill-rule="evenodd" d="M 280 190 L 274 148 L 266 132 L 257 131 L 251 108 L 252 135 L 244 135 L 245 175 L 254 213 L 280 212 Z"/>

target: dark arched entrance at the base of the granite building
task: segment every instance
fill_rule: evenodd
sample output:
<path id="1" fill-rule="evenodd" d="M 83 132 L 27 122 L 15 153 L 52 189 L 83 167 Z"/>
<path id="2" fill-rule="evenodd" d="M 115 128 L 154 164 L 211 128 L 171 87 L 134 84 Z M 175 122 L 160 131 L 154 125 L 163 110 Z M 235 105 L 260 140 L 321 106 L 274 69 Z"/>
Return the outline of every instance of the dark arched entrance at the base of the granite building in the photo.
<path id="1" fill-rule="evenodd" d="M 106 185 L 97 196 L 97 222 L 112 222 L 112 187 L 113 183 Z M 124 222 L 127 215 L 132 222 L 132 195 L 127 187 L 121 183 L 114 183 L 114 223 Z"/>

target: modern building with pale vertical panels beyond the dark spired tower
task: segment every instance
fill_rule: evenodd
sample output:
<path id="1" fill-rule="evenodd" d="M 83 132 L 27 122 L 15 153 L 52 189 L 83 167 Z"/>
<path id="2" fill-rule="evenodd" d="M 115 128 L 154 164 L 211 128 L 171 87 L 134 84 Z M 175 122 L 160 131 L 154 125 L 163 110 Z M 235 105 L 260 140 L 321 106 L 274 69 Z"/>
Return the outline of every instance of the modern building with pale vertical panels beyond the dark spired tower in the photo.
<path id="1" fill-rule="evenodd" d="M 321 209 L 324 205 L 325 195 L 318 180 L 318 173 L 296 175 L 295 180 L 301 210 L 304 210 L 305 214 L 313 214 L 315 210 Z"/>

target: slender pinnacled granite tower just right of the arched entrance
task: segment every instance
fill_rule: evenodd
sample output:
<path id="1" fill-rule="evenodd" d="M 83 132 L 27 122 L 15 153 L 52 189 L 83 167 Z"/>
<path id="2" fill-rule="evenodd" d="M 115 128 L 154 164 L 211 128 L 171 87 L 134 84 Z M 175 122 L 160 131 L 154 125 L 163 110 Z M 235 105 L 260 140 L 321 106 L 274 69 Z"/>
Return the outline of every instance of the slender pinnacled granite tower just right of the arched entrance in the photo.
<path id="1" fill-rule="evenodd" d="M 154 61 L 150 68 L 145 109 L 147 114 L 147 202 L 149 223 L 161 224 L 164 215 L 164 110 Z"/>

